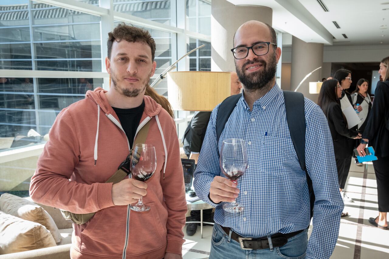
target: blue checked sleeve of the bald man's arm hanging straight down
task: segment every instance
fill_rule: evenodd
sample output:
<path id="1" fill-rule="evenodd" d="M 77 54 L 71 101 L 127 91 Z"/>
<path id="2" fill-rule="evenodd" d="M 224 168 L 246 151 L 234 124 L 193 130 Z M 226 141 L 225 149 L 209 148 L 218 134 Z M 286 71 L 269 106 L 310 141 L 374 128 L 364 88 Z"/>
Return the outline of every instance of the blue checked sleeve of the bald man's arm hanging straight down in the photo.
<path id="1" fill-rule="evenodd" d="M 343 200 L 328 122 L 319 106 L 307 115 L 305 161 L 315 193 L 312 234 L 308 241 L 308 259 L 329 258 L 338 239 Z M 318 156 L 323 159 L 317 160 Z"/>

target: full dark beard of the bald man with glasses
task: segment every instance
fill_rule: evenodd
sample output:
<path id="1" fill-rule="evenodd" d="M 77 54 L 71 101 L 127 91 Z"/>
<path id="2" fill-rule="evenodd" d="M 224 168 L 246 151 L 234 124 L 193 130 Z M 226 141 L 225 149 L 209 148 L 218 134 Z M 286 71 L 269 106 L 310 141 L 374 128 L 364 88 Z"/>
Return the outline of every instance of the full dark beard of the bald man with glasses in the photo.
<path id="1" fill-rule="evenodd" d="M 275 53 L 270 56 L 268 63 L 265 60 L 259 60 L 259 63 L 263 65 L 262 70 L 258 70 L 248 75 L 245 74 L 245 67 L 254 63 L 258 63 L 258 61 L 248 61 L 242 65 L 242 68 L 239 69 L 235 62 L 238 78 L 248 91 L 254 91 L 265 87 L 269 82 L 271 82 L 277 72 L 277 60 L 275 59 Z"/>

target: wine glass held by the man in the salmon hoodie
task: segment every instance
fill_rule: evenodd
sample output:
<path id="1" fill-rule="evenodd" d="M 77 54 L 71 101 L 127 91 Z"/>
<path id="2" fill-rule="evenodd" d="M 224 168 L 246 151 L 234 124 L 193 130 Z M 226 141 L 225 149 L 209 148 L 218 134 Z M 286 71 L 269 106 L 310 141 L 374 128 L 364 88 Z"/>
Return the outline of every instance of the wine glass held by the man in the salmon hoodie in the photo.
<path id="1" fill-rule="evenodd" d="M 155 171 L 157 160 L 155 155 L 155 147 L 150 144 L 136 144 L 130 161 L 132 177 L 136 180 L 145 182 Z M 149 206 L 143 204 L 142 197 L 135 205 L 130 205 L 131 210 L 147 211 Z"/>

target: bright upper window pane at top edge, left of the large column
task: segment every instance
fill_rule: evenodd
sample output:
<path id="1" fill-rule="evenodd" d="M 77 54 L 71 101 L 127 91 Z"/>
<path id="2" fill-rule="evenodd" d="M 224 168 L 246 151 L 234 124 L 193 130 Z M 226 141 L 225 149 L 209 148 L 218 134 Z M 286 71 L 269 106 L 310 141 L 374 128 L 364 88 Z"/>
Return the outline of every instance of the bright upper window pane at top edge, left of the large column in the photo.
<path id="1" fill-rule="evenodd" d="M 186 0 L 186 29 L 211 35 L 211 4 L 206 0 Z"/>

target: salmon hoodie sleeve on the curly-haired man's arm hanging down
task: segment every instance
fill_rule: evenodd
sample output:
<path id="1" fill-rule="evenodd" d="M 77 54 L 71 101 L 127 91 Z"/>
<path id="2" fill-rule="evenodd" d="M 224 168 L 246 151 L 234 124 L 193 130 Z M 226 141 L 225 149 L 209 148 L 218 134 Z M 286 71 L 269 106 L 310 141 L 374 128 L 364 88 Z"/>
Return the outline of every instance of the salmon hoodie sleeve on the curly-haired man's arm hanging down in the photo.
<path id="1" fill-rule="evenodd" d="M 168 115 L 166 114 L 166 116 Z M 165 179 L 161 176 L 163 199 L 165 200 L 166 209 L 168 211 L 168 219 L 166 222 L 166 253 L 181 255 L 182 244 L 184 243 L 184 233 L 182 232 L 182 229 L 185 226 L 187 205 L 177 130 L 175 129 L 173 119 L 171 119 L 170 123 L 170 132 L 164 131 L 166 134 L 165 143 L 167 145 L 166 149 L 168 153 Z"/>

